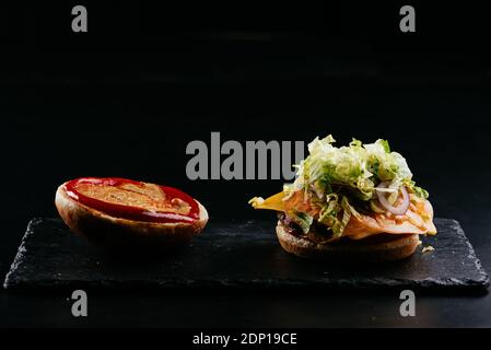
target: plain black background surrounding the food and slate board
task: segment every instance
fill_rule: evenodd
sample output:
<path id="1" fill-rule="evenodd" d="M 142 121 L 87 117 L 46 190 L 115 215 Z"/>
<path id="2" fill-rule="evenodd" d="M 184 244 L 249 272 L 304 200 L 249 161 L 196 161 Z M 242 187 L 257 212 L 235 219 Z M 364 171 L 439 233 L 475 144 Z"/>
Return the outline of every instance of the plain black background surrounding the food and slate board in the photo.
<path id="1" fill-rule="evenodd" d="M 417 33 L 405 34 L 406 3 L 394 2 L 85 2 L 89 33 L 71 32 L 74 4 L 0 7 L 0 275 L 28 220 L 57 215 L 56 187 L 73 177 L 168 184 L 211 217 L 269 218 L 247 200 L 281 180 L 187 179 L 186 144 L 209 143 L 211 131 L 238 141 L 388 139 L 436 215 L 459 220 L 491 269 L 483 5 L 413 2 Z M 102 294 L 98 318 L 83 323 L 66 296 L 1 292 L 0 325 L 491 325 L 489 298 L 423 298 L 423 315 L 402 320 L 398 295 L 358 295 L 354 304 L 312 295 Z"/>

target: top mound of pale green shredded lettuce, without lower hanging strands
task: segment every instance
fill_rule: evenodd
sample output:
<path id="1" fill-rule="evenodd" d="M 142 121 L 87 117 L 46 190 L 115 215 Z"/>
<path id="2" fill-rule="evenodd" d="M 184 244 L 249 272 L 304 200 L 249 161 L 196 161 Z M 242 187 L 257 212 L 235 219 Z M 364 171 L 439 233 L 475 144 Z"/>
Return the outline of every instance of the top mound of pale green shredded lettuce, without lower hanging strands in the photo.
<path id="1" fill-rule="evenodd" d="M 391 152 L 388 141 L 377 140 L 363 144 L 353 139 L 348 147 L 334 147 L 335 139 L 328 136 L 316 138 L 308 144 L 309 155 L 297 167 L 294 184 L 287 190 L 314 190 L 319 198 L 344 188 L 362 200 L 375 195 L 375 187 L 387 182 L 388 189 L 397 192 L 404 184 L 411 192 L 421 197 L 425 191 L 414 185 L 406 159 Z"/>

